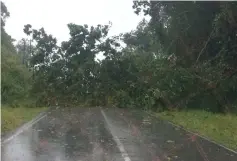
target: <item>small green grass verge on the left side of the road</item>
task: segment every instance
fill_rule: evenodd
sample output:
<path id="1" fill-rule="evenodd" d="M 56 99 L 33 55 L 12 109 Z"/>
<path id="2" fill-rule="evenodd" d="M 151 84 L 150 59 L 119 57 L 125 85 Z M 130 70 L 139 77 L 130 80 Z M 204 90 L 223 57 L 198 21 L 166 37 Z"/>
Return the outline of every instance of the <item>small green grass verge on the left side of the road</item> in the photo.
<path id="1" fill-rule="evenodd" d="M 26 107 L 2 107 L 2 131 L 1 134 L 16 129 L 23 123 L 26 123 L 37 116 L 40 112 L 45 111 L 46 108 L 26 108 Z"/>

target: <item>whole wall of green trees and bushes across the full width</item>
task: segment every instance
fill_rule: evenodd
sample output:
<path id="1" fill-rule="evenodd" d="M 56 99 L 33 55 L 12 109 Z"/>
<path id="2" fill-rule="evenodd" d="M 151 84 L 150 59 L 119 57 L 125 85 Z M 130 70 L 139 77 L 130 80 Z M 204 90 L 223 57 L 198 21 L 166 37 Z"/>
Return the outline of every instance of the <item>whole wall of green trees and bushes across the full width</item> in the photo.
<path id="1" fill-rule="evenodd" d="M 70 23 L 61 45 L 25 25 L 35 46 L 19 43 L 27 61 L 12 68 L 4 54 L 16 52 L 2 27 L 2 102 L 29 96 L 36 105 L 237 111 L 237 3 L 136 1 L 133 9 L 150 20 L 114 37 L 111 24 Z M 96 60 L 99 53 L 105 59 Z"/>

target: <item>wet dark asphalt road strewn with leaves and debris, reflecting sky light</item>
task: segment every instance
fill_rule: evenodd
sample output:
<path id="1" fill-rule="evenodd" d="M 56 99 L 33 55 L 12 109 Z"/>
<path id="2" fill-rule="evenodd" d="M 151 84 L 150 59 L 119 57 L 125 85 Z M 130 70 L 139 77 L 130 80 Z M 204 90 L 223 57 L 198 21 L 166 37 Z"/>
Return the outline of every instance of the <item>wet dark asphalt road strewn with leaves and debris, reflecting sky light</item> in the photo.
<path id="1" fill-rule="evenodd" d="M 237 161 L 237 154 L 141 111 L 53 109 L 2 144 L 2 161 Z"/>

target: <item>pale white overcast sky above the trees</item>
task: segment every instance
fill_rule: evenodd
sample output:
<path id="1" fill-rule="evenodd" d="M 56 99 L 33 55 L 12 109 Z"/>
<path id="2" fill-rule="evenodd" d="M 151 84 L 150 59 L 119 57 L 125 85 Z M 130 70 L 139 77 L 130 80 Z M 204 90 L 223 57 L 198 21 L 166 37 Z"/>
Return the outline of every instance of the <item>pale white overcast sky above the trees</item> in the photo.
<path id="1" fill-rule="evenodd" d="M 68 40 L 68 23 L 79 25 L 108 24 L 112 22 L 109 35 L 135 29 L 142 19 L 132 9 L 132 0 L 3 0 L 10 12 L 6 31 L 12 38 L 25 37 L 23 27 L 44 27 L 59 42 Z"/>

